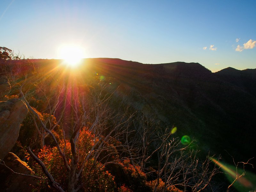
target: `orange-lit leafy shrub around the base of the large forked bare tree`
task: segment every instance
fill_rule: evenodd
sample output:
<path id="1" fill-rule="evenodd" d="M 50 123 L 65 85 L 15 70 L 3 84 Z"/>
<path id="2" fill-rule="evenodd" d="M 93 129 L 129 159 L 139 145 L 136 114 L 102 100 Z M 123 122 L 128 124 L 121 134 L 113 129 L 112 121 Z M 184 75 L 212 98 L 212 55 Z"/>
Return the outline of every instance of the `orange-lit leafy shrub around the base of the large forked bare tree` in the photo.
<path id="1" fill-rule="evenodd" d="M 77 171 L 80 170 L 86 156 L 89 154 L 94 136 L 86 128 L 83 128 L 79 133 L 79 138 L 77 141 L 77 151 L 79 153 L 79 162 L 77 166 Z M 65 148 L 65 155 L 68 164 L 71 164 L 71 145 L 68 140 L 60 141 L 60 148 L 63 151 Z M 52 174 L 56 182 L 60 183 L 64 190 L 67 189 L 68 183 L 68 171 L 63 163 L 63 159 L 60 156 L 57 147 L 44 146 L 37 156 L 43 161 L 47 170 Z M 104 166 L 100 163 L 94 163 L 95 159 L 89 158 L 84 164 L 83 174 L 80 177 L 80 182 L 85 183 L 84 191 L 113 191 L 116 188 L 114 182 L 114 177 L 105 170 Z M 32 163 L 31 167 L 40 176 L 44 176 L 41 167 L 35 162 Z M 46 185 L 46 181 L 40 181 L 40 190 Z"/>

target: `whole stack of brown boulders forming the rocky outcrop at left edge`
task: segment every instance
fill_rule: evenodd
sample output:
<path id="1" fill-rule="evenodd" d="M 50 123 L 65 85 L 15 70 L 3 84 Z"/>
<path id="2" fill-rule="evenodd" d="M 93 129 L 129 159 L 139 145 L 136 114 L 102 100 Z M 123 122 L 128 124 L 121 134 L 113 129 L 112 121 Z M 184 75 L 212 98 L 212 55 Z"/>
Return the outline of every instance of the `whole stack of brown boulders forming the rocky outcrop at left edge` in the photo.
<path id="1" fill-rule="evenodd" d="M 5 97 L 11 85 L 6 76 L 0 76 L 0 186 L 1 191 L 32 191 L 36 185 L 34 172 L 18 156 L 9 151 L 14 146 L 20 132 L 20 124 L 28 114 L 27 105 L 20 99 Z M 25 175 L 20 175 L 22 173 Z"/>

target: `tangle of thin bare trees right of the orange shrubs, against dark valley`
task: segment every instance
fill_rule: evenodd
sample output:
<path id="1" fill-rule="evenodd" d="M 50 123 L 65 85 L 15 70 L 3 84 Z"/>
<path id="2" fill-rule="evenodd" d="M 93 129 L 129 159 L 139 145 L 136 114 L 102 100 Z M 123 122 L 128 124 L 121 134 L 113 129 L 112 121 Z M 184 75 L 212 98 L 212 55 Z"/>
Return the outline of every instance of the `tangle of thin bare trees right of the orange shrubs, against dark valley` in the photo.
<path id="1" fill-rule="evenodd" d="M 164 191 L 172 185 L 183 187 L 184 191 L 187 187 L 192 191 L 201 191 L 207 187 L 211 190 L 210 182 L 219 169 L 216 164 L 211 166 L 209 155 L 204 161 L 200 161 L 197 158 L 198 151 L 193 149 L 195 146 L 192 147 L 193 142 L 182 145 L 178 138 L 173 137 L 174 127 L 162 129 L 158 122 L 144 116 L 139 122 L 133 144 L 138 146 L 135 153 L 140 154 L 137 160 L 143 171 L 150 170 L 146 166 L 147 162 L 154 160 L 157 165 L 153 167 L 156 172 L 154 191 L 160 180 L 164 181 Z M 151 173 L 152 171 L 148 172 Z"/>

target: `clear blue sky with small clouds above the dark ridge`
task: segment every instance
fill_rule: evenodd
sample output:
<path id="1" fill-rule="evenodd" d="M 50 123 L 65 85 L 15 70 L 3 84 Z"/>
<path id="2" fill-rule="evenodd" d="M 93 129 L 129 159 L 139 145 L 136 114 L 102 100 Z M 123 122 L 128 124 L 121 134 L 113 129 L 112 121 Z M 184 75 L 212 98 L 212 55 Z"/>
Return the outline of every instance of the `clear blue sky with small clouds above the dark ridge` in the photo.
<path id="1" fill-rule="evenodd" d="M 64 45 L 84 58 L 256 68 L 256 1 L 0 1 L 0 46 L 61 59 Z"/>

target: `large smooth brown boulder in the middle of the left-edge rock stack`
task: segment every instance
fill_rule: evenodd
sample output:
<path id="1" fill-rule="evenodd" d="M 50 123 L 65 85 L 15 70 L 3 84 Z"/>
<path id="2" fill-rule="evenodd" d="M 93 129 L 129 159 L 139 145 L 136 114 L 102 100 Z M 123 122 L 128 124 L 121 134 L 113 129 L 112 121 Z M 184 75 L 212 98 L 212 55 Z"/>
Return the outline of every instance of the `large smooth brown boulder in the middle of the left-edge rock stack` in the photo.
<path id="1" fill-rule="evenodd" d="M 27 105 L 20 99 L 0 102 L 0 159 L 4 159 L 14 146 L 20 124 L 27 114 Z"/>

